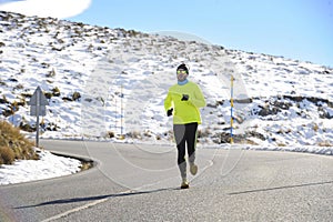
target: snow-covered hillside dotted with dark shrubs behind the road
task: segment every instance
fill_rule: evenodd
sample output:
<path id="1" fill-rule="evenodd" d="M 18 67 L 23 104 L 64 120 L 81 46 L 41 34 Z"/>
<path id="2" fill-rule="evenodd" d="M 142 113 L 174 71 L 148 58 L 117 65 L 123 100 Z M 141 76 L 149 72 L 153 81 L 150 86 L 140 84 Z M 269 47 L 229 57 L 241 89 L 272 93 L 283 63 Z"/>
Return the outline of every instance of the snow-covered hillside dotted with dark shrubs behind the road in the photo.
<path id="1" fill-rule="evenodd" d="M 199 144 L 230 139 L 332 154 L 333 69 L 134 30 L 0 12 L 0 115 L 33 135 L 30 100 L 50 105 L 43 138 L 172 142 L 163 100 L 185 62 L 203 89 Z"/>

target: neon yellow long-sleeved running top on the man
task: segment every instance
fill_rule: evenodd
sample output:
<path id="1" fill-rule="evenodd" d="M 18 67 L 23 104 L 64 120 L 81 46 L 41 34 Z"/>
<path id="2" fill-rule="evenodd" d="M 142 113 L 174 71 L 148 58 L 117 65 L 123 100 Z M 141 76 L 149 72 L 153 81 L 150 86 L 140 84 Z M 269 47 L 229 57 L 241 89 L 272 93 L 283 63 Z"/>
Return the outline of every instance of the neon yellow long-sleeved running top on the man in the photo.
<path id="1" fill-rule="evenodd" d="M 188 94 L 188 101 L 181 101 L 183 94 Z M 165 112 L 173 108 L 173 124 L 201 123 L 199 108 L 205 107 L 204 97 L 194 82 L 174 84 L 169 89 L 164 100 Z"/>

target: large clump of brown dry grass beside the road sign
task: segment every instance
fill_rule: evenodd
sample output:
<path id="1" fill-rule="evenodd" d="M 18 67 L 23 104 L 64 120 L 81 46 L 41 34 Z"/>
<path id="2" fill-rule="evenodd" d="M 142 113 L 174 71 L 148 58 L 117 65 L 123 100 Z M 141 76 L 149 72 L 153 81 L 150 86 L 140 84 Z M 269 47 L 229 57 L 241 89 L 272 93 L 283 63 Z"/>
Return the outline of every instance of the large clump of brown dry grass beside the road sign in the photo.
<path id="1" fill-rule="evenodd" d="M 33 142 L 21 134 L 7 121 L 0 121 L 0 164 L 11 164 L 14 160 L 38 160 Z"/>

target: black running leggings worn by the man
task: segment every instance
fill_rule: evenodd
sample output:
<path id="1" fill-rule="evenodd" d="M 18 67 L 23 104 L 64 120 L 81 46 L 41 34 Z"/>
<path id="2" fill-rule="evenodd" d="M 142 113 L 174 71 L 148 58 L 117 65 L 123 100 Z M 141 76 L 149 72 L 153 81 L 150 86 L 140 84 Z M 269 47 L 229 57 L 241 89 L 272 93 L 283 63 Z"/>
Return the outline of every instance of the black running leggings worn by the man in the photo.
<path id="1" fill-rule="evenodd" d="M 173 133 L 178 149 L 178 165 L 183 178 L 186 176 L 186 144 L 189 162 L 194 163 L 195 160 L 196 129 L 198 122 L 173 125 Z"/>

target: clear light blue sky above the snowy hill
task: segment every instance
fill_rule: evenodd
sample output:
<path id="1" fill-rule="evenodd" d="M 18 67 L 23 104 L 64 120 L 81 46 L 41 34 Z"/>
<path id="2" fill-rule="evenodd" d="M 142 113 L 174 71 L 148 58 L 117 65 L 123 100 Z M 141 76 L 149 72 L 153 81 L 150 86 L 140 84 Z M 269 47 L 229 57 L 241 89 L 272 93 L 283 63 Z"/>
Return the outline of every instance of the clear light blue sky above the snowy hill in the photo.
<path id="1" fill-rule="evenodd" d="M 63 4 L 71 1 L 82 2 Z M 64 19 L 142 32 L 185 32 L 228 49 L 333 68 L 333 0 L 92 0 L 81 8 Z"/>

